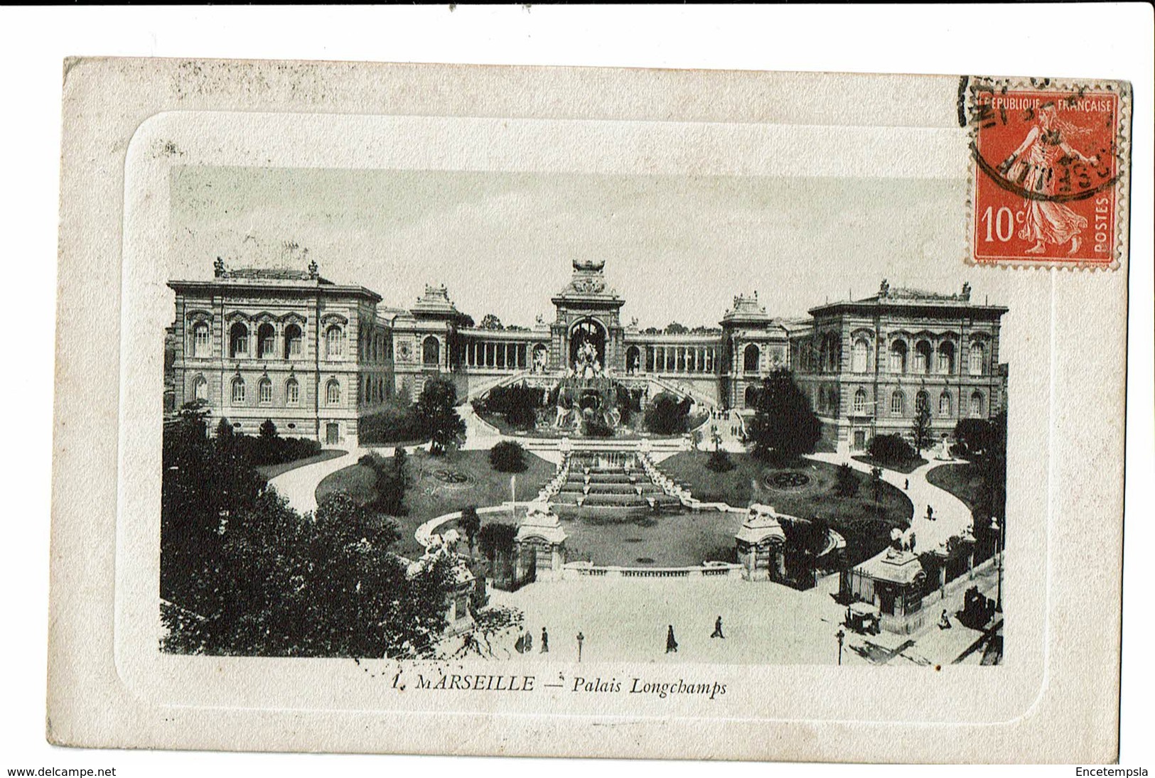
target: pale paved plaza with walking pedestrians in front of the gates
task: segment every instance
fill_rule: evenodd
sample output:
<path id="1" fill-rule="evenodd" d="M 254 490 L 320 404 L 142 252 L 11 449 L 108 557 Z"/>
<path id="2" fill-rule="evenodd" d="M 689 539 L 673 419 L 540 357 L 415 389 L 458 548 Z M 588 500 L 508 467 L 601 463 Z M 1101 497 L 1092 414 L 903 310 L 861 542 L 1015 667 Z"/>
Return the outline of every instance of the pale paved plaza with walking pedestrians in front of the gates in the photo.
<path id="1" fill-rule="evenodd" d="M 989 569 L 968 585 L 993 598 L 997 573 Z M 833 594 L 837 575 L 819 581 L 808 591 L 797 591 L 776 583 L 751 583 L 740 578 L 633 578 L 606 581 L 579 578 L 532 583 L 516 592 L 492 590 L 494 605 L 519 608 L 524 613 L 523 628 L 535 644 L 526 660 L 578 658 L 576 635 L 584 636 L 582 661 L 655 661 L 711 664 L 835 664 L 839 644 L 844 665 L 949 665 L 983 637 L 952 615 L 952 628 L 939 629 L 939 609 L 953 614 L 962 607 L 959 586 L 953 596 L 933 607 L 927 626 L 912 635 L 858 635 L 842 627 L 845 607 Z M 722 616 L 725 639 L 711 638 L 714 621 Z M 666 653 L 666 628 L 673 626 L 678 652 Z M 541 653 L 542 627 L 550 634 L 550 653 Z M 516 635 L 493 641 L 493 656 L 506 658 L 514 652 Z M 971 651 L 964 664 L 978 664 L 983 650 Z"/>

